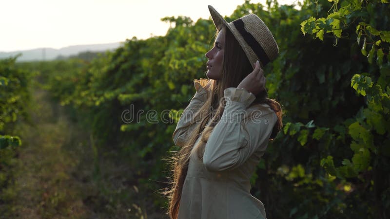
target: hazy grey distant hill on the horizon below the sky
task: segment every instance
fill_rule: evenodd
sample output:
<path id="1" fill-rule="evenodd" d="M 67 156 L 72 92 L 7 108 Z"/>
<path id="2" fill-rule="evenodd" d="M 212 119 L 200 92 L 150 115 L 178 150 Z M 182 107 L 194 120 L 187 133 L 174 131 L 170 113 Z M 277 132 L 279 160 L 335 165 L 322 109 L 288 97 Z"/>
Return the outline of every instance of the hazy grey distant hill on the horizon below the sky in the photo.
<path id="1" fill-rule="evenodd" d="M 82 52 L 104 52 L 106 50 L 115 50 L 121 46 L 121 42 L 103 43 L 103 44 L 89 44 L 89 45 L 75 45 L 67 46 L 61 49 L 53 48 L 37 48 L 32 50 L 0 52 L 0 59 L 15 56 L 19 53 L 22 55 L 18 57 L 17 61 L 42 61 L 53 60 L 58 57 L 67 57 L 71 55 L 78 55 Z"/>

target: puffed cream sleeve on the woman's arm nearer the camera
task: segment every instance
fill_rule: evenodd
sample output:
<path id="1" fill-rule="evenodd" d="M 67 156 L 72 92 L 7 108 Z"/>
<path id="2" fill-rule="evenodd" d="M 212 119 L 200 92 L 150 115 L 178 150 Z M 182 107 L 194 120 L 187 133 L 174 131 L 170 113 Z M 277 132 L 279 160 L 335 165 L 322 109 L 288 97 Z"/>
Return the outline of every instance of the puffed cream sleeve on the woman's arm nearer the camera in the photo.
<path id="1" fill-rule="evenodd" d="M 226 105 L 206 143 L 203 164 L 208 171 L 234 169 L 245 163 L 256 150 L 265 151 L 277 116 L 266 104 L 256 111 L 256 118 L 243 119 L 254 101 L 253 93 L 227 88 Z M 249 116 L 249 113 L 248 113 Z"/>

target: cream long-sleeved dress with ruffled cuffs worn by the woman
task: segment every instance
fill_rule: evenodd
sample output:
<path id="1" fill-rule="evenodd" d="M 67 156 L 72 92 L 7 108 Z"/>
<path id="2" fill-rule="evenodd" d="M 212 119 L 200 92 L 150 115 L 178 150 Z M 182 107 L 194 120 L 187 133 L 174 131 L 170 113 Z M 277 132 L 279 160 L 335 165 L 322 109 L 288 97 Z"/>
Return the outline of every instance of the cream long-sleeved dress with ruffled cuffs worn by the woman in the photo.
<path id="1" fill-rule="evenodd" d="M 184 146 L 195 128 L 191 115 L 193 119 L 206 101 L 206 83 L 207 79 L 194 80 L 196 93 L 173 133 L 177 146 Z M 205 146 L 203 160 L 195 154 L 190 157 L 178 219 L 266 219 L 263 203 L 250 193 L 250 178 L 277 116 L 266 104 L 249 107 L 255 96 L 244 89 L 227 88 L 224 95 L 227 104 Z M 259 117 L 243 120 L 252 110 L 259 110 Z"/>

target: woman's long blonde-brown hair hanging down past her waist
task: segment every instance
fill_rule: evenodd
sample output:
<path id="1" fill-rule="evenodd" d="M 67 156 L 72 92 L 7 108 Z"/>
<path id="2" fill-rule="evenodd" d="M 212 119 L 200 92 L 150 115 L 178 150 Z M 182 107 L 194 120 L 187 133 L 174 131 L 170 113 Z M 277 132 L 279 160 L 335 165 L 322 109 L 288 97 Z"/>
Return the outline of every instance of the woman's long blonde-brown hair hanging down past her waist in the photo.
<path id="1" fill-rule="evenodd" d="M 171 186 L 168 188 L 168 191 L 164 191 L 162 194 L 166 195 L 169 200 L 167 214 L 170 215 L 171 219 L 177 219 L 178 216 L 181 193 L 184 180 L 187 176 L 191 153 L 196 153 L 199 159 L 203 159 L 207 140 L 223 114 L 226 104 L 226 101 L 223 100 L 224 90 L 230 87 L 237 87 L 238 84 L 253 71 L 253 67 L 245 55 L 245 52 L 228 28 L 219 26 L 215 36 L 222 29 L 224 29 L 223 34 L 225 34 L 222 77 L 220 80 L 209 79 L 207 81 L 207 84 L 209 85 L 207 88 L 207 100 L 194 115 L 193 121 L 197 125 L 190 134 L 187 144 L 176 151 L 172 159 L 169 159 L 173 179 L 170 182 Z M 205 84 L 201 85 L 204 86 Z M 277 101 L 267 98 L 265 92 L 256 95 L 256 99 L 252 105 L 264 103 L 268 104 L 278 117 L 278 121 L 273 127 L 273 132 L 270 137 L 270 140 L 273 140 L 282 128 L 282 109 Z M 254 113 L 249 115 L 250 118 L 253 118 L 253 116 Z M 208 124 L 210 119 L 211 122 Z M 195 142 L 199 136 L 200 141 L 194 148 Z"/>

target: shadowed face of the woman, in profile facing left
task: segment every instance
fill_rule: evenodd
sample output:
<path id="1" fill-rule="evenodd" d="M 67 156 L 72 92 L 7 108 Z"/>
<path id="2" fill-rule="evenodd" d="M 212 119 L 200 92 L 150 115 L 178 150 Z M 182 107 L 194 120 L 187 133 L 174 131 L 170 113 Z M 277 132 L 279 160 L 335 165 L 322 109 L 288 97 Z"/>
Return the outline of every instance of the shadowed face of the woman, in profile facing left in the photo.
<path id="1" fill-rule="evenodd" d="M 222 62 L 223 62 L 223 54 L 224 54 L 224 46 L 225 46 L 225 28 L 222 28 L 221 31 L 218 32 L 218 35 L 215 38 L 214 47 L 206 53 L 206 57 L 209 61 L 206 63 L 207 65 L 207 77 L 210 79 L 221 79 L 222 78 Z"/>

